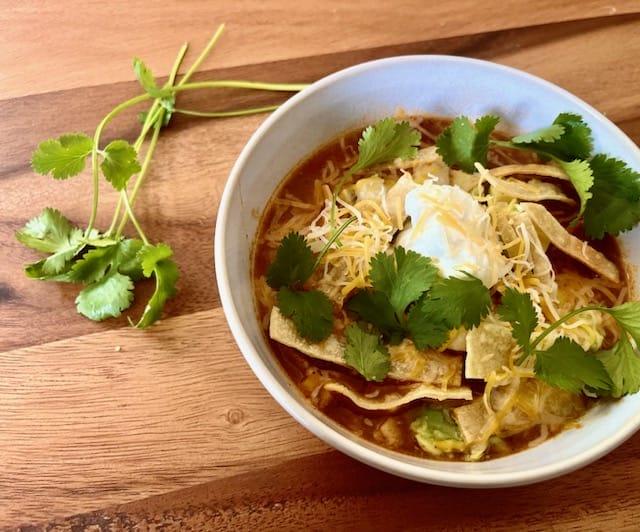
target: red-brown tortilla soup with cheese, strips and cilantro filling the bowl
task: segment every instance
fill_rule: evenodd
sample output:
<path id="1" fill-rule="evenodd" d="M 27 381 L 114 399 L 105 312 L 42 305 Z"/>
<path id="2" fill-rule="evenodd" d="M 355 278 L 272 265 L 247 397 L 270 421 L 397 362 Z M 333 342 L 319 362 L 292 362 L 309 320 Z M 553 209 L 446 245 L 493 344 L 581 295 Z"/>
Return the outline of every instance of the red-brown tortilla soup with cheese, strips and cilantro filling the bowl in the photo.
<path id="1" fill-rule="evenodd" d="M 263 212 L 253 279 L 274 355 L 329 418 L 414 456 L 487 460 L 576 426 L 613 395 L 584 353 L 621 332 L 569 314 L 629 298 L 616 240 L 584 236 L 561 164 L 497 134 L 483 164 L 448 164 L 451 119 L 390 120 L 321 147 Z M 376 134 L 387 160 L 362 164 Z M 584 382 L 552 371 L 563 350 L 597 366 Z"/>

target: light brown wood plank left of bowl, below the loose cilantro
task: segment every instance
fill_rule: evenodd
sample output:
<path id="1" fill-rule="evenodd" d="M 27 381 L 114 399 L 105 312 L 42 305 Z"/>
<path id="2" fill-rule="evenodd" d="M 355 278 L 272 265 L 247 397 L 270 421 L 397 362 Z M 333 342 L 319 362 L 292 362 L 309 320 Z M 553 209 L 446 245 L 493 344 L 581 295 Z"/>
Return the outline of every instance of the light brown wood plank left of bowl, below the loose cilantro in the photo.
<path id="1" fill-rule="evenodd" d="M 327 449 L 260 386 L 220 309 L 7 351 L 0 375 L 0 523 Z"/>

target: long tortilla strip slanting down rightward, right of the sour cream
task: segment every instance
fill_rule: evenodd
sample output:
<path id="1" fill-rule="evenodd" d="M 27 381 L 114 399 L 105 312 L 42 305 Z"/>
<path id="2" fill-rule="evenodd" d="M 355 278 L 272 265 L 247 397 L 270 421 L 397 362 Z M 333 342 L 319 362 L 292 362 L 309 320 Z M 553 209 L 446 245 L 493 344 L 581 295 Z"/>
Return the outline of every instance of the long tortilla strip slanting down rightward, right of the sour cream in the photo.
<path id="1" fill-rule="evenodd" d="M 618 267 L 602 253 L 570 234 L 543 205 L 521 203 L 536 227 L 560 250 L 564 251 L 594 272 L 613 281 L 620 282 Z"/>

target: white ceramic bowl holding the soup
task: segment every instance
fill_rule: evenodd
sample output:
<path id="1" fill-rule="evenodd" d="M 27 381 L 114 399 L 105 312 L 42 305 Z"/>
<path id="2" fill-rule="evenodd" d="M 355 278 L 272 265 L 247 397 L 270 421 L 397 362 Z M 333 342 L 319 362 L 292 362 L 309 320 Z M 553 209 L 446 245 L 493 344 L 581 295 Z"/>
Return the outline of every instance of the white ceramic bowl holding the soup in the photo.
<path id="1" fill-rule="evenodd" d="M 289 382 L 263 339 L 255 317 L 250 249 L 258 217 L 278 183 L 303 157 L 343 131 L 406 113 L 502 117 L 500 128 L 534 130 L 558 113 L 589 123 L 596 152 L 640 169 L 640 150 L 585 102 L 524 72 L 450 56 L 404 56 L 347 68 L 313 83 L 270 115 L 252 136 L 226 184 L 215 234 L 220 298 L 231 331 L 264 387 L 296 420 L 329 445 L 378 469 L 432 484 L 515 486 L 582 467 L 640 428 L 640 394 L 598 406 L 582 428 L 505 458 L 480 463 L 416 459 L 358 439 L 310 407 Z M 629 262 L 640 265 L 640 230 L 623 238 Z"/>

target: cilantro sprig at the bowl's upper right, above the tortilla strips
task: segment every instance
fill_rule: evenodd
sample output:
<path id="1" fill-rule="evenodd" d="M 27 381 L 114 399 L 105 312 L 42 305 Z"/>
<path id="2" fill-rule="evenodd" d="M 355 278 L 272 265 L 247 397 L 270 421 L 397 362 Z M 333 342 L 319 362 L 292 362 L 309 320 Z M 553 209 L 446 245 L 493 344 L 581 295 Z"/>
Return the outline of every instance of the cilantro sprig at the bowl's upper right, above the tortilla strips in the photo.
<path id="1" fill-rule="evenodd" d="M 473 124 L 456 118 L 436 139 L 438 153 L 449 166 L 468 173 L 487 164 L 491 145 L 536 153 L 561 166 L 573 184 L 580 207 L 575 222 L 584 222 L 589 238 L 616 236 L 640 222 L 640 174 L 623 161 L 593 154 L 589 125 L 575 113 L 560 113 L 549 126 L 509 141 L 491 136 L 499 118 L 483 116 Z"/>

